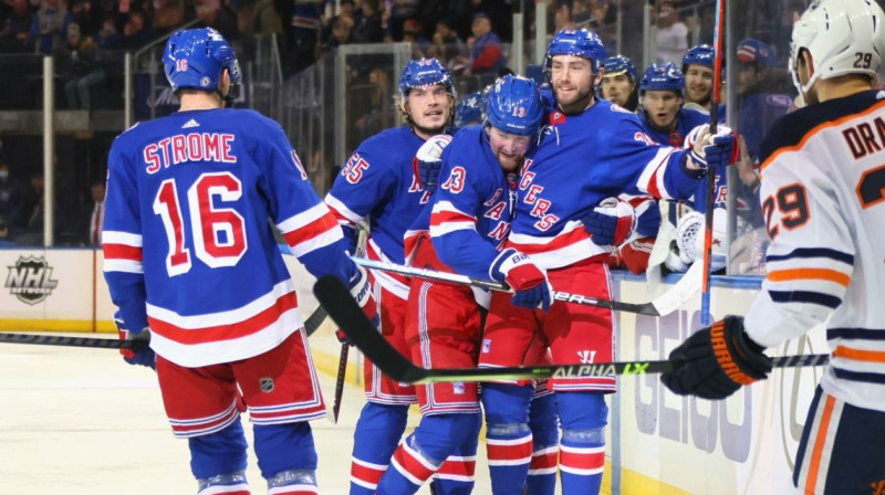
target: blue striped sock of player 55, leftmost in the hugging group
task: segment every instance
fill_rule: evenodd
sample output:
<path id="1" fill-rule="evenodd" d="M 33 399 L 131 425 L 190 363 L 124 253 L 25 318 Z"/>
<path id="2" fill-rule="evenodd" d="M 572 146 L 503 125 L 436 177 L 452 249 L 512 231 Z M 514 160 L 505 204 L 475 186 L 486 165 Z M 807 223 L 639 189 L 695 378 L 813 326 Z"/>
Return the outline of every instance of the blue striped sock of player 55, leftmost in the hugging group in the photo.
<path id="1" fill-rule="evenodd" d="M 351 495 L 374 495 L 399 438 L 408 406 L 366 402 L 356 422 L 351 464 Z"/>

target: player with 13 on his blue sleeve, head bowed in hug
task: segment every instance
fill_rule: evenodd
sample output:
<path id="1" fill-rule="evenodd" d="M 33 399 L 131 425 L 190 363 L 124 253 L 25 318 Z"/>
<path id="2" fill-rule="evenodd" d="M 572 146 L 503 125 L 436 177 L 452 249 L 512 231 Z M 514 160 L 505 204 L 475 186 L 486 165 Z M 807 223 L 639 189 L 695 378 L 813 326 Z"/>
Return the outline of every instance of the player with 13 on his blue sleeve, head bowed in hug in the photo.
<path id="1" fill-rule="evenodd" d="M 423 164 L 441 161 L 441 185 L 408 232 L 412 265 L 489 277 L 489 266 L 501 255 L 510 230 L 517 172 L 537 144 L 542 116 L 534 81 L 507 75 L 488 95 L 483 125 L 465 128 L 455 138 L 431 137 L 421 147 Z M 537 298 L 537 285 L 545 283 L 531 263 L 511 270 L 507 280 L 517 298 Z M 480 307 L 487 305 L 483 291 L 413 278 L 406 338 L 415 362 L 428 368 L 475 367 L 485 312 Z M 397 449 L 378 494 L 415 493 L 431 475 L 438 494 L 470 493 L 481 423 L 477 383 L 420 386 L 418 398 L 421 422 Z M 444 464 L 451 455 L 469 461 L 459 466 L 450 457 Z"/>

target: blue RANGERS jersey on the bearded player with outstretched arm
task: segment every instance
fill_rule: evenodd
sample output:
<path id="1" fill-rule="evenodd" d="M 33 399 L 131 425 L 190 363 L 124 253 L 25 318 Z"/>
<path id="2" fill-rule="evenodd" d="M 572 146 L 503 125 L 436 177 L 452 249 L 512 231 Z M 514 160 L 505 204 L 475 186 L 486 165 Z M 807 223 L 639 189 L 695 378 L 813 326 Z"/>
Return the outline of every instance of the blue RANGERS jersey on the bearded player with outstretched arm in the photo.
<path id="1" fill-rule="evenodd" d="M 695 192 L 698 180 L 683 170 L 685 151 L 655 145 L 636 115 L 610 102 L 577 115 L 553 110 L 549 120 L 522 167 L 507 243 L 540 266 L 607 254 L 581 223 L 605 198 L 627 192 L 686 199 Z"/>

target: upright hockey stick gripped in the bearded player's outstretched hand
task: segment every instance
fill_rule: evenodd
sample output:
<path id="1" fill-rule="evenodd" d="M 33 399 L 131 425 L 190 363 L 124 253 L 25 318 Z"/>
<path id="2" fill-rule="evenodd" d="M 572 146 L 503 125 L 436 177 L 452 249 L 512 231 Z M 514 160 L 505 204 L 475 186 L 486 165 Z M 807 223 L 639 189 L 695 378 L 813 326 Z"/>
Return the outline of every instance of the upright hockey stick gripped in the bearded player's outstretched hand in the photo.
<path id="1" fill-rule="evenodd" d="M 710 104 L 710 135 L 716 135 L 716 126 L 719 123 L 719 92 L 722 87 L 722 24 L 725 23 L 725 0 L 716 0 L 716 24 L 712 32 L 712 45 L 715 50 L 715 61 L 712 66 L 712 103 Z M 735 146 L 738 146 L 735 143 Z M 716 194 L 716 170 L 707 170 L 707 211 L 704 213 L 704 277 L 700 287 L 700 324 L 710 325 L 712 314 L 710 313 L 710 267 L 712 263 L 712 206 L 714 194 Z"/>

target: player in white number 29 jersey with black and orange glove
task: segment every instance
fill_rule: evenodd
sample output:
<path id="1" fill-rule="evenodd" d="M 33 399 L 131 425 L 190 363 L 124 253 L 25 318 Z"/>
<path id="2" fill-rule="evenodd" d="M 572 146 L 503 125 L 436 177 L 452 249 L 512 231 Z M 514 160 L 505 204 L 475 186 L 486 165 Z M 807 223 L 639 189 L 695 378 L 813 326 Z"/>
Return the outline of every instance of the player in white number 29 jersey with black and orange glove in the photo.
<path id="1" fill-rule="evenodd" d="M 793 25 L 790 72 L 809 105 L 762 143 L 768 275 L 746 317 L 727 316 L 670 354 L 664 385 L 722 399 L 771 371 L 762 352 L 825 324 L 830 365 L 799 444 L 803 494 L 885 486 L 885 13 L 819 0 Z"/>

